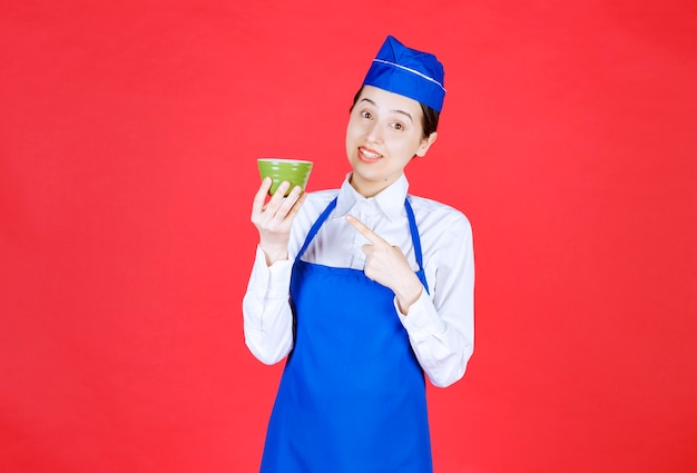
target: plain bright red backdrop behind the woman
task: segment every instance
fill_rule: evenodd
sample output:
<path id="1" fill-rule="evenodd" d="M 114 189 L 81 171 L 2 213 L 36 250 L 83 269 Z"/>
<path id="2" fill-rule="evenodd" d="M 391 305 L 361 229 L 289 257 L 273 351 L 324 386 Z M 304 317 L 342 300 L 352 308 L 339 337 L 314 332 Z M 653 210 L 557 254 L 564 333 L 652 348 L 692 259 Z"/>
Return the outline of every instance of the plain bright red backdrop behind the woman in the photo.
<path id="1" fill-rule="evenodd" d="M 384 37 L 449 89 L 412 191 L 474 229 L 438 473 L 697 471 L 690 0 L 0 1 L 0 470 L 253 472 L 255 158 L 348 166 Z"/>

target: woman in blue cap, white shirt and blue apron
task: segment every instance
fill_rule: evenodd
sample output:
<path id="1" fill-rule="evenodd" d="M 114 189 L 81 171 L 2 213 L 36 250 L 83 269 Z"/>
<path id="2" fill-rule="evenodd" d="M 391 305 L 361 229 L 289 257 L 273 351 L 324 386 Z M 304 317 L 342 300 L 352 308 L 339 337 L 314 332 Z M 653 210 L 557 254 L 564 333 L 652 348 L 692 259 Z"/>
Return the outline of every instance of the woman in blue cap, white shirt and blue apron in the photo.
<path id="1" fill-rule="evenodd" d="M 436 139 L 443 76 L 387 37 L 351 108 L 342 187 L 284 198 L 284 183 L 265 203 L 266 179 L 254 198 L 245 339 L 266 364 L 287 356 L 263 473 L 432 471 L 424 373 L 448 386 L 473 349 L 470 224 L 404 176 Z"/>

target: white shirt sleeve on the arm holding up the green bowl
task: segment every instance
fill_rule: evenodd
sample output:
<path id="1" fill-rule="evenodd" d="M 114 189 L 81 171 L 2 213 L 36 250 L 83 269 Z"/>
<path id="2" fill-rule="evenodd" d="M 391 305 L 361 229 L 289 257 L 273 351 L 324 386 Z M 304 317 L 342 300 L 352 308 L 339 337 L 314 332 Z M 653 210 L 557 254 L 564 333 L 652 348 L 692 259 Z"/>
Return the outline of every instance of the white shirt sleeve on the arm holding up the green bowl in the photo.
<path id="1" fill-rule="evenodd" d="M 293 348 L 293 313 L 288 299 L 293 260 L 266 266 L 257 246 L 247 292 L 242 300 L 245 343 L 262 363 L 282 361 Z"/>

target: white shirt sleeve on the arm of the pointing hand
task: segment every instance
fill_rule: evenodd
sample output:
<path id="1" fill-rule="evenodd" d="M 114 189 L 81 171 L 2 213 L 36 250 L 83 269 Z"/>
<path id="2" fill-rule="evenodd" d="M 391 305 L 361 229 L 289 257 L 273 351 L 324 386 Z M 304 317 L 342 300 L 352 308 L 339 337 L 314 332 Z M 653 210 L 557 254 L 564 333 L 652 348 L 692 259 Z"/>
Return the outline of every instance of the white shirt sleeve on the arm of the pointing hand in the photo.
<path id="1" fill-rule="evenodd" d="M 443 242 L 431 256 L 436 259 L 430 263 L 436 267 L 431 296 L 424 290 L 406 316 L 394 302 L 419 364 L 439 387 L 464 375 L 474 348 L 472 229 L 465 218 L 443 228 Z"/>

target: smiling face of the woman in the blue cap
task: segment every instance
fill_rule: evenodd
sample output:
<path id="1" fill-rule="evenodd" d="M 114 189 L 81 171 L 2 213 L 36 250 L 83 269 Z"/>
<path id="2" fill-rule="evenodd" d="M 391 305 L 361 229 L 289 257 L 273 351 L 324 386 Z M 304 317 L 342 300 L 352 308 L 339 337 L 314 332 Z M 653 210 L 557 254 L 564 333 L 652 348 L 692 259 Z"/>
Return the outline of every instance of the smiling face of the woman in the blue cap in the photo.
<path id="1" fill-rule="evenodd" d="M 414 156 L 424 156 L 436 134 L 423 137 L 416 100 L 365 86 L 346 128 L 346 155 L 353 168 L 351 185 L 373 197 L 397 180 Z"/>

